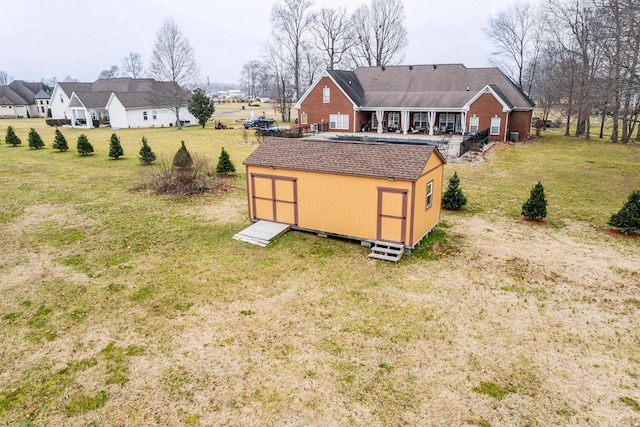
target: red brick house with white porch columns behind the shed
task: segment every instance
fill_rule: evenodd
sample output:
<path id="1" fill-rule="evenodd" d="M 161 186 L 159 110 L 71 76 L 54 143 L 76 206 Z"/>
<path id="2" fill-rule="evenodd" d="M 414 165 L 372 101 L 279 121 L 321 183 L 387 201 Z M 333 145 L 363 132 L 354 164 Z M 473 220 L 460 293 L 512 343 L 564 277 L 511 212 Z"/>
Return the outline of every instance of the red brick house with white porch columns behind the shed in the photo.
<path id="1" fill-rule="evenodd" d="M 476 133 L 523 140 L 535 104 L 498 68 L 462 64 L 325 71 L 296 104 L 301 126 L 331 132 Z"/>

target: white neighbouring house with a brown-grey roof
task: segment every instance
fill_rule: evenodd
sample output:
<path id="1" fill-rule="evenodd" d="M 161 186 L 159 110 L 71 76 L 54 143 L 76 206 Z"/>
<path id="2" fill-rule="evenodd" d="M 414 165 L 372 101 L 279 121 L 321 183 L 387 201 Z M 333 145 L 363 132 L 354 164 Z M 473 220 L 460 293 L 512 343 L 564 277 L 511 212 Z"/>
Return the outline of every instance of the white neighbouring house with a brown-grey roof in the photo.
<path id="1" fill-rule="evenodd" d="M 69 119 L 73 127 L 170 127 L 176 124 L 170 104 L 171 82 L 154 79 L 99 79 L 94 83 L 58 83 L 51 98 L 54 119 Z M 191 94 L 183 91 L 180 109 L 183 125 L 196 124 L 186 105 Z"/>

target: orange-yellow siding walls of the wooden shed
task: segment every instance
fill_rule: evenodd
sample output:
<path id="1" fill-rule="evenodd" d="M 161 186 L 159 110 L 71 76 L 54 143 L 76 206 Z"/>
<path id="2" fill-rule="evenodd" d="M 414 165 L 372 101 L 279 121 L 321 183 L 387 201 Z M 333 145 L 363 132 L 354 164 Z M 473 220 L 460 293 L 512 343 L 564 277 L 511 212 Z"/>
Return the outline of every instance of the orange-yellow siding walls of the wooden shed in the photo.
<path id="1" fill-rule="evenodd" d="M 249 191 L 249 217 L 255 219 L 253 212 L 253 191 L 256 195 L 271 195 L 263 180 L 256 178 L 256 188 L 252 188 L 253 174 L 271 177 L 295 178 L 297 185 L 297 227 L 327 234 L 353 237 L 362 240 L 378 238 L 378 189 L 403 189 L 407 191 L 407 218 L 405 244 L 414 246 L 422 236 L 433 228 L 440 220 L 440 199 L 442 198 L 443 163 L 440 157 L 432 155 L 417 182 L 384 178 L 369 178 L 351 175 L 336 175 L 321 172 L 295 171 L 287 169 L 269 169 L 260 166 L 247 166 L 247 183 Z M 433 204 L 425 209 L 426 183 L 434 181 Z M 276 191 L 273 196 L 278 200 L 293 200 L 294 194 L 286 185 L 279 187 L 276 179 Z M 416 194 L 414 199 L 413 190 Z M 386 194 L 386 193 L 385 193 Z M 399 206 L 401 198 L 383 200 L 384 209 L 392 214 L 402 214 Z M 263 203 L 263 201 L 259 201 Z M 278 215 L 284 216 L 293 223 L 293 205 L 283 206 L 278 203 Z M 386 204 L 391 203 L 387 206 Z M 264 205 L 263 205 L 264 209 Z M 382 221 L 387 221 L 383 218 Z M 386 223 L 385 223 L 386 224 Z M 412 230 L 413 227 L 413 230 Z M 395 237 L 395 236 L 394 236 Z M 394 240 L 394 238 L 388 238 Z"/>

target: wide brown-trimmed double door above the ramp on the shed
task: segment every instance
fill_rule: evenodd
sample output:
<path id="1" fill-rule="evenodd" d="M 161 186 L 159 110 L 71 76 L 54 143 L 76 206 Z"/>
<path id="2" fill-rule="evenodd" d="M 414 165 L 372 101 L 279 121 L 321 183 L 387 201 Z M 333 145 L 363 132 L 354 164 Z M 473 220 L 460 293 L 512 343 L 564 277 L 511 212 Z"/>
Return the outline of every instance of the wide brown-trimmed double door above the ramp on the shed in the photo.
<path id="1" fill-rule="evenodd" d="M 298 187 L 295 178 L 251 175 L 253 219 L 296 225 Z"/>

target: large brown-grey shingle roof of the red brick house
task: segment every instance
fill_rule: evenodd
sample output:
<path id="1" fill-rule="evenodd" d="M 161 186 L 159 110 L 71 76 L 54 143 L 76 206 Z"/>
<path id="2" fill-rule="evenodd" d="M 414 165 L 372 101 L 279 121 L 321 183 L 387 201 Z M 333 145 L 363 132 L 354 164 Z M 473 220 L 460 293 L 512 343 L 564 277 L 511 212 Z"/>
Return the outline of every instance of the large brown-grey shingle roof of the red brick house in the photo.
<path id="1" fill-rule="evenodd" d="M 329 75 L 363 108 L 460 109 L 487 85 L 511 108 L 535 104 L 498 68 L 462 64 L 362 67 Z"/>

